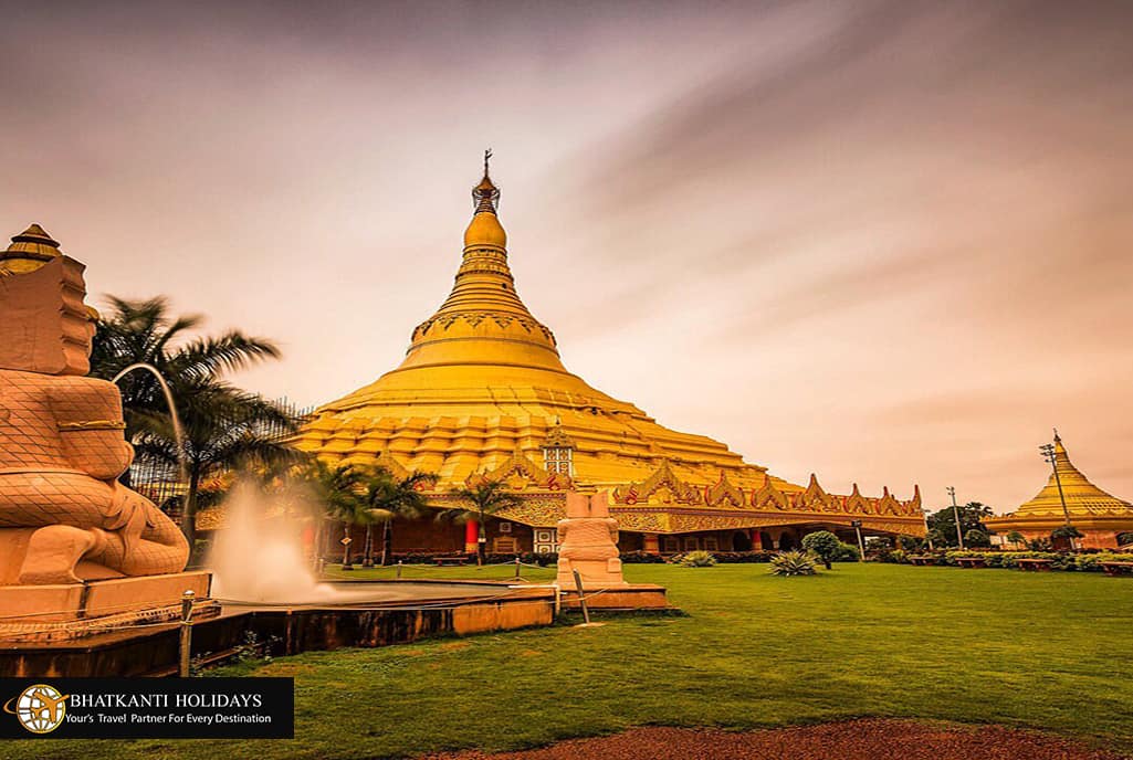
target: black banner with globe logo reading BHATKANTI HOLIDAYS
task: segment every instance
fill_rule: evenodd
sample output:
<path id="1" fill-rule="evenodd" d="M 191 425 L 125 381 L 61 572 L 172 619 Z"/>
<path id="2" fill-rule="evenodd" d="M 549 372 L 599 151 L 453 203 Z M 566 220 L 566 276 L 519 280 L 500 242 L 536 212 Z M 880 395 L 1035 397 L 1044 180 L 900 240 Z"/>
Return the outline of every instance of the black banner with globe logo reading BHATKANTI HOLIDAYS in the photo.
<path id="1" fill-rule="evenodd" d="M 0 738 L 293 738 L 292 678 L 0 678 Z"/>

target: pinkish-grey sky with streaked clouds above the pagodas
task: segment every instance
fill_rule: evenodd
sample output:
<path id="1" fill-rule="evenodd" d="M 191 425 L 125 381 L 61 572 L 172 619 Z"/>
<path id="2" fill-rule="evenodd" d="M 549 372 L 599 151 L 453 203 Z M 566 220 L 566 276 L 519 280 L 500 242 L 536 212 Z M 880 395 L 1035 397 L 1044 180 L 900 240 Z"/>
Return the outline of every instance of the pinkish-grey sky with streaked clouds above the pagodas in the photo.
<path id="1" fill-rule="evenodd" d="M 448 294 L 483 150 L 569 369 L 827 490 L 1133 501 L 1133 3 L 0 0 L 0 232 L 275 339 L 299 404 Z"/>

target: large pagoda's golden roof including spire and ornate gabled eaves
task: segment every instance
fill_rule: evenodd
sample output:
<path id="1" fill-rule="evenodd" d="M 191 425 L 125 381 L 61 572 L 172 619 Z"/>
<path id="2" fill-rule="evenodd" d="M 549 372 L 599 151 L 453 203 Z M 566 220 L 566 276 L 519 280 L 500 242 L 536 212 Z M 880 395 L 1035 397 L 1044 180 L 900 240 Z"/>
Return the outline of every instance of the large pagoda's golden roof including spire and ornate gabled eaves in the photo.
<path id="1" fill-rule="evenodd" d="M 438 494 L 479 477 L 505 479 L 533 498 L 564 487 L 608 488 L 615 507 L 642 515 L 658 507 L 646 522 L 661 531 L 690 529 L 675 524 L 673 511 L 707 510 L 729 519 L 722 527 L 739 518 L 758 524 L 750 518 L 761 511 L 760 498 L 774 502 L 776 513 L 811 511 L 795 505 L 808 489 L 744 462 L 723 443 L 658 425 L 568 372 L 551 330 L 516 291 L 499 198 L 485 162 L 449 298 L 414 330 L 397 369 L 317 409 L 297 446 L 338 461 L 384 458 L 433 472 Z M 556 445 L 572 450 L 572 479 L 544 469 L 544 447 Z M 920 530 L 919 494 L 911 502 L 887 492 L 853 498 L 823 492 L 819 501 L 827 512 L 877 510 L 909 521 L 905 532 Z M 553 511 L 529 521 L 554 524 Z"/>

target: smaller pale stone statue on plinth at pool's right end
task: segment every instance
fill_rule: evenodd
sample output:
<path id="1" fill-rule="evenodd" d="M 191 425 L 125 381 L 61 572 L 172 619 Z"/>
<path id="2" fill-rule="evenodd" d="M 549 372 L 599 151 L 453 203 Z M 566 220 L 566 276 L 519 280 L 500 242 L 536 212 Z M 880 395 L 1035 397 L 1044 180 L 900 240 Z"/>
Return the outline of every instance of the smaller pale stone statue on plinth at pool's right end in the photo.
<path id="1" fill-rule="evenodd" d="M 566 519 L 559 521 L 560 588 L 574 589 L 574 574 L 582 588 L 600 589 L 627 586 L 617 552 L 617 521 L 610 516 L 605 492 L 566 494 Z"/>

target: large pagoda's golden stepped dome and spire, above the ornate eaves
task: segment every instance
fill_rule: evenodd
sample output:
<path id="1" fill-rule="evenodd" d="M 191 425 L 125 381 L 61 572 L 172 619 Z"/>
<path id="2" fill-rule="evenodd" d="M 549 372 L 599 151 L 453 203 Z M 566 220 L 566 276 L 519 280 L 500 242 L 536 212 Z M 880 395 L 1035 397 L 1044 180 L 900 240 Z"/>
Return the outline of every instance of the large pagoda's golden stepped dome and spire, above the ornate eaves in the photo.
<path id="1" fill-rule="evenodd" d="M 764 468 L 726 445 L 657 425 L 563 366 L 551 330 L 516 292 L 499 197 L 485 173 L 452 291 L 414 330 L 400 366 L 320 408 L 297 445 L 357 462 L 389 451 L 448 487 L 510 460 L 517 445 L 542 458 L 557 432 L 578 442 L 576 463 L 591 484 L 639 480 L 671 458 L 685 476 L 710 467 L 715 479 L 725 468 L 744 486 L 761 486 Z"/>

